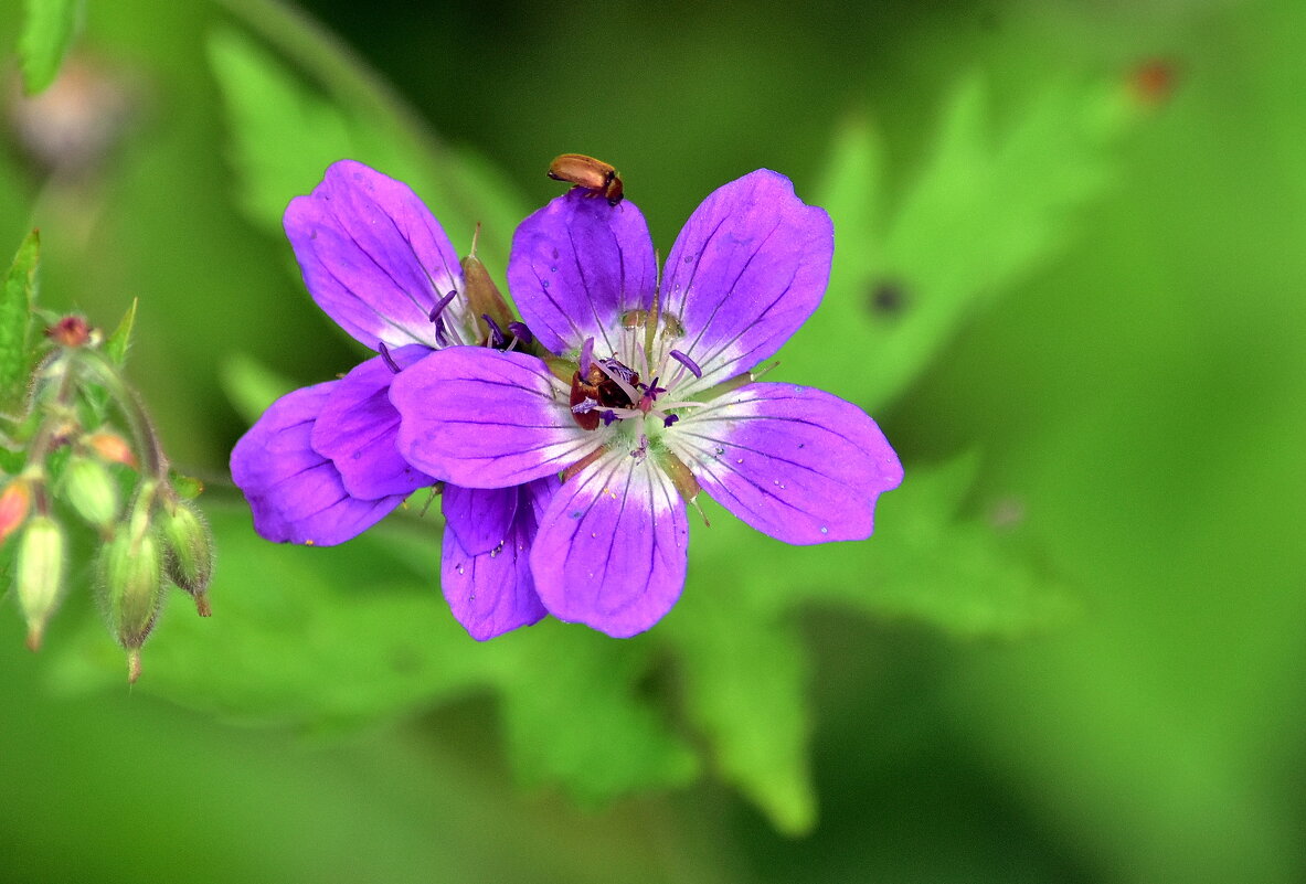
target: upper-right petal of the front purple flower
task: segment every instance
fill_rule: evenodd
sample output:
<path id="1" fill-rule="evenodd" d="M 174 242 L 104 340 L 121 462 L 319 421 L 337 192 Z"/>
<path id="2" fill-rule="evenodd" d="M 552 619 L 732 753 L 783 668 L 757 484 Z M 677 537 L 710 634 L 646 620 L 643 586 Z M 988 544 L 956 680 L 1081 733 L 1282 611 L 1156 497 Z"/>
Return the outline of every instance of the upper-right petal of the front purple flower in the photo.
<path id="1" fill-rule="evenodd" d="M 662 309 L 684 326 L 674 346 L 703 367 L 703 377 L 687 377 L 677 394 L 774 355 L 820 303 L 833 251 L 829 215 L 804 205 L 777 172 L 759 168 L 704 200 L 662 278 Z"/>

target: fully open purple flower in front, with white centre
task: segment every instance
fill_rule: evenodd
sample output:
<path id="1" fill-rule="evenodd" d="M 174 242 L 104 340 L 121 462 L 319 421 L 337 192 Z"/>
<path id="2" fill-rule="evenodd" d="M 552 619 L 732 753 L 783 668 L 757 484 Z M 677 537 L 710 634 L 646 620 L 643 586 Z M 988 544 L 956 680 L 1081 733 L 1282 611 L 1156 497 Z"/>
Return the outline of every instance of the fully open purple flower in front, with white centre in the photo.
<path id="1" fill-rule="evenodd" d="M 400 452 L 468 487 L 563 473 L 530 554 L 535 589 L 554 616 L 611 636 L 679 598 L 700 487 L 788 543 L 870 537 L 875 499 L 902 479 L 879 427 L 750 373 L 816 308 L 832 252 L 825 212 L 760 170 L 697 208 L 658 287 L 639 209 L 562 196 L 517 229 L 508 266 L 559 358 L 460 347 L 405 371 L 390 387 Z"/>

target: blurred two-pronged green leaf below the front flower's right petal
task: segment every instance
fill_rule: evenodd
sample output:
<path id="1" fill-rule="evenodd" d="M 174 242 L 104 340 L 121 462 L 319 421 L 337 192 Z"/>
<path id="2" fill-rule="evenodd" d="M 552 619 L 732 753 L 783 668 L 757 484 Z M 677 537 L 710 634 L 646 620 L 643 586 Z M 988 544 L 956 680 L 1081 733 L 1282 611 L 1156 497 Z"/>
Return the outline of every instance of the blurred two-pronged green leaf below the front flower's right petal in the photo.
<path id="1" fill-rule="evenodd" d="M 991 526 L 957 522 L 977 462 L 910 469 L 879 501 L 875 537 L 855 543 L 790 547 L 705 507 L 712 528 L 695 533 L 684 595 L 658 635 L 683 662 L 688 712 L 721 776 L 777 829 L 806 832 L 816 812 L 799 610 L 837 607 L 965 639 L 1015 639 L 1077 612 Z"/>

